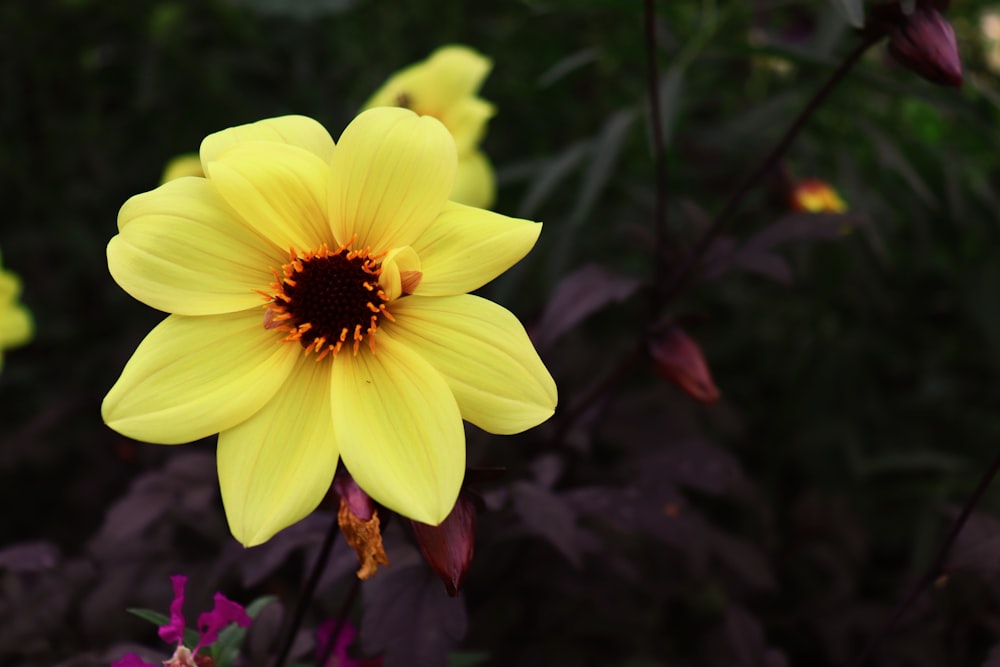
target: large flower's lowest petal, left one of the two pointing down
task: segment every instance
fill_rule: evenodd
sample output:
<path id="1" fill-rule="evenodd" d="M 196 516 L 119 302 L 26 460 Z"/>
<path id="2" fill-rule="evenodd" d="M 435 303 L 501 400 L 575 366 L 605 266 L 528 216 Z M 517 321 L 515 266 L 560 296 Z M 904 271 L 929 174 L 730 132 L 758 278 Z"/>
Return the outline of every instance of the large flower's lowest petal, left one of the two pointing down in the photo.
<path id="1" fill-rule="evenodd" d="M 267 405 L 219 435 L 218 460 L 229 529 L 244 546 L 309 515 L 337 469 L 330 364 L 300 355 Z"/>

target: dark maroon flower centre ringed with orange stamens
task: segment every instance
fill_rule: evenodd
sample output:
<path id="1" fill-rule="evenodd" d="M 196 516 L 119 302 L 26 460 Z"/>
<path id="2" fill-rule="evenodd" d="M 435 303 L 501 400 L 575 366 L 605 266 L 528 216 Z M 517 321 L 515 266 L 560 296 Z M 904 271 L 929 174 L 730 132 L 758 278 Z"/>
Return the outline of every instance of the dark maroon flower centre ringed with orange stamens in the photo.
<path id="1" fill-rule="evenodd" d="M 281 274 L 274 272 L 272 293 L 261 292 L 268 300 L 264 327 L 289 332 L 282 340 L 298 341 L 317 361 L 336 357 L 345 344 L 357 354 L 366 336 L 374 352 L 379 317 L 393 319 L 378 284 L 382 255 L 348 245 L 321 245 L 302 255 L 292 249 Z"/>

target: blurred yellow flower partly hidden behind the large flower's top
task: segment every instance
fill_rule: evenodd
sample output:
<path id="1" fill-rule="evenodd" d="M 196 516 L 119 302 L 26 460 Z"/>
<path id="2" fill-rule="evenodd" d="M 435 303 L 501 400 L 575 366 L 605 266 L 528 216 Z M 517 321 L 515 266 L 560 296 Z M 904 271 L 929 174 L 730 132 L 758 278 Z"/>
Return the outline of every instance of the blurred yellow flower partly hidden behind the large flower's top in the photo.
<path id="1" fill-rule="evenodd" d="M 479 150 L 486 122 L 496 108 L 476 97 L 493 63 L 465 46 L 443 46 L 427 60 L 396 72 L 365 104 L 406 107 L 434 116 L 448 128 L 458 148 L 458 171 L 451 199 L 489 208 L 496 197 L 493 167 Z"/>

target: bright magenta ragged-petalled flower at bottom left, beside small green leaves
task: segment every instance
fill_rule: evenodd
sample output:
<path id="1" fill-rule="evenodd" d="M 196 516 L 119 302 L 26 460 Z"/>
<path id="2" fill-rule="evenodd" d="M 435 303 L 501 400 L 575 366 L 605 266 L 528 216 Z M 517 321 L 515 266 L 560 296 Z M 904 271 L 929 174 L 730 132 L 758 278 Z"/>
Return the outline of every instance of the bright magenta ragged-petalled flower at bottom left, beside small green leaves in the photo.
<path id="1" fill-rule="evenodd" d="M 235 623 L 241 628 L 250 625 L 251 619 L 247 615 L 242 605 L 228 599 L 222 593 L 216 593 L 215 601 L 211 611 L 202 612 L 198 616 L 198 643 L 194 649 L 184 646 L 184 629 L 187 625 L 184 621 L 184 587 L 187 585 L 187 577 L 183 574 L 175 574 L 170 577 L 170 583 L 174 587 L 174 599 L 170 603 L 170 622 L 161 625 L 159 629 L 160 639 L 172 644 L 177 643 L 174 654 L 170 660 L 163 663 L 163 667 L 197 667 L 196 658 L 198 651 L 211 646 L 219 639 L 219 633 L 230 623 Z M 135 653 L 127 653 L 120 659 L 111 663 L 111 667 L 159 667 L 144 661 Z"/>

